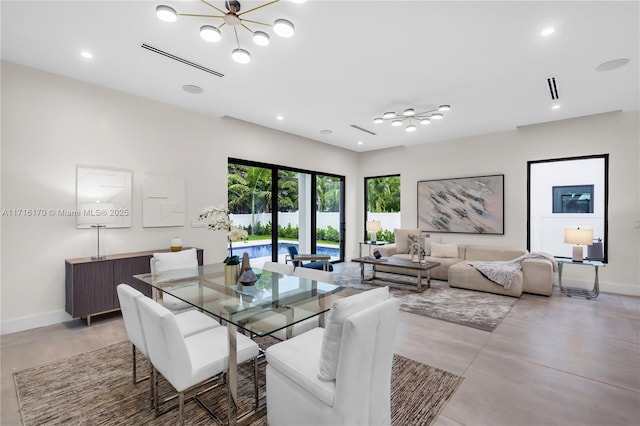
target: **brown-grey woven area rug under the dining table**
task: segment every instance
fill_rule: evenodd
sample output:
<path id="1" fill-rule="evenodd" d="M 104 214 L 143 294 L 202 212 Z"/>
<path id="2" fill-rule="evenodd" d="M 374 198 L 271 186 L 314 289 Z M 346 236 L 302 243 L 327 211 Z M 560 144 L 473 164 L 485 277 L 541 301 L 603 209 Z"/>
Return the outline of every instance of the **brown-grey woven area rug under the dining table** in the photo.
<path id="1" fill-rule="evenodd" d="M 138 357 L 139 372 L 149 365 Z M 150 407 L 149 383 L 137 385 L 131 379 L 131 345 L 118 343 L 51 364 L 14 373 L 23 422 L 32 425 L 175 425 L 177 410 L 154 418 Z M 239 412 L 251 408 L 251 368 L 239 370 Z M 264 363 L 261 366 L 260 395 L 264 396 Z M 456 391 L 462 377 L 394 355 L 392 379 L 392 423 L 394 426 L 430 425 Z M 160 393 L 171 394 L 160 382 Z M 226 388 L 203 396 L 219 418 L 226 419 Z M 211 425 L 213 419 L 195 402 L 185 404 L 185 424 Z M 262 408 L 248 423 L 266 426 Z M 303 425 L 301 425 L 303 426 Z"/>

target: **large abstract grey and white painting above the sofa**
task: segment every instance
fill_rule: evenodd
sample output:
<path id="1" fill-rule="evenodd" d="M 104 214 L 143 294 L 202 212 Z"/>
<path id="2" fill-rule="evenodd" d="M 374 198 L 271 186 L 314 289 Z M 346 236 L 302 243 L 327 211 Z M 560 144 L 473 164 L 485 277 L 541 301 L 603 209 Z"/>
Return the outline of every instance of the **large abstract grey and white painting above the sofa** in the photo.
<path id="1" fill-rule="evenodd" d="M 504 234 L 504 175 L 419 181 L 418 227 Z"/>

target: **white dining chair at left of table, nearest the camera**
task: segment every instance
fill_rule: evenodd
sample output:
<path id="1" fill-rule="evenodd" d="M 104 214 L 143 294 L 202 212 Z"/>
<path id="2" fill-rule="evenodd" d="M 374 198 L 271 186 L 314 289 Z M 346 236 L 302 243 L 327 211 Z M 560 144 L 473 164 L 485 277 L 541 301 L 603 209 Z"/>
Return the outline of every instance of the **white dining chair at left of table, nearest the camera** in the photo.
<path id="1" fill-rule="evenodd" d="M 205 383 L 229 369 L 229 342 L 224 326 L 191 336 L 180 333 L 176 317 L 169 309 L 148 297 L 136 299 L 142 330 L 153 365 L 153 380 L 157 373 L 178 392 L 180 424 L 184 424 L 185 392 Z M 255 404 L 258 403 L 258 345 L 242 334 L 237 335 L 238 364 L 253 361 Z M 160 413 L 158 386 L 154 383 L 154 406 Z"/>

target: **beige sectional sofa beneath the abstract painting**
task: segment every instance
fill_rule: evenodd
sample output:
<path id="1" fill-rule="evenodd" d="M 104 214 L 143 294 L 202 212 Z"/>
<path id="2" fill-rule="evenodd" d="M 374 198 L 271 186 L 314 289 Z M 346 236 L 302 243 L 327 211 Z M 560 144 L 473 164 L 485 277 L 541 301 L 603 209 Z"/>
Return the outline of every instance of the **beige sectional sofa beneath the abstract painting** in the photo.
<path id="1" fill-rule="evenodd" d="M 487 279 L 468 263 L 470 261 L 494 262 L 512 260 L 526 254 L 526 250 L 471 244 L 442 244 L 439 243 L 439 238 L 428 237 L 426 234 L 421 233 L 419 229 L 396 229 L 394 234 L 396 238 L 395 244 L 388 244 L 378 248 L 382 256 L 410 260 L 412 242 L 409 236 L 418 236 L 418 239 L 421 238 L 424 241 L 424 249 L 428 254 L 426 259 L 440 263 L 440 266 L 431 270 L 431 277 L 439 280 L 448 280 L 451 287 L 486 291 L 513 297 L 520 297 L 523 292 L 544 296 L 551 295 L 554 271 L 556 269 L 554 262 L 551 260 L 543 258 L 523 260 L 521 263 L 522 269 L 513 276 L 508 289 Z M 438 242 L 435 242 L 436 240 Z M 377 266 L 376 270 L 401 274 L 411 273 L 411 271 L 397 269 L 392 266 Z"/>

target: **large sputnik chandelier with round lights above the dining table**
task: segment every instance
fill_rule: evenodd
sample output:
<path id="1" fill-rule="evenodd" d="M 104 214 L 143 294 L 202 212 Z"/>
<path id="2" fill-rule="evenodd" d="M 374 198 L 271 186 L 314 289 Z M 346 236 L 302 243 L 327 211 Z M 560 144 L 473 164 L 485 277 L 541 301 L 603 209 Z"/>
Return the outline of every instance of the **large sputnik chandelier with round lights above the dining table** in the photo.
<path id="1" fill-rule="evenodd" d="M 251 54 L 249 51 L 242 49 L 240 47 L 240 38 L 238 37 L 238 28 L 242 27 L 249 31 L 252 34 L 252 39 L 255 44 L 258 46 L 268 46 L 270 42 L 269 34 L 264 31 L 254 31 L 249 28 L 248 24 L 254 25 L 263 25 L 267 27 L 273 27 L 273 31 L 281 36 L 281 37 L 291 37 L 294 33 L 294 26 L 291 21 L 286 19 L 276 19 L 273 24 L 268 24 L 266 22 L 253 21 L 250 19 L 244 18 L 245 15 L 254 12 L 258 9 L 262 9 L 267 6 L 271 6 L 272 4 L 278 3 L 280 0 L 273 0 L 268 3 L 264 3 L 260 6 L 256 6 L 244 12 L 240 12 L 241 5 L 239 1 L 225 1 L 224 7 L 227 9 L 224 10 L 214 6 L 210 2 L 206 0 L 200 0 L 202 3 L 207 6 L 215 9 L 221 15 L 206 15 L 206 14 L 197 14 L 197 13 L 177 13 L 175 9 L 170 6 L 161 5 L 156 7 L 156 15 L 161 21 L 164 22 L 176 22 L 178 20 L 178 16 L 192 16 L 199 18 L 214 18 L 214 19 L 222 19 L 222 23 L 217 27 L 213 25 L 203 25 L 200 27 L 200 37 L 208 42 L 215 43 L 222 39 L 222 32 L 220 28 L 225 25 L 233 28 L 233 32 L 236 37 L 236 45 L 238 46 L 231 52 L 231 57 L 238 63 L 247 64 L 251 61 Z M 305 0 L 291 0 L 294 3 L 304 3 Z"/>

